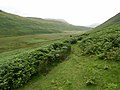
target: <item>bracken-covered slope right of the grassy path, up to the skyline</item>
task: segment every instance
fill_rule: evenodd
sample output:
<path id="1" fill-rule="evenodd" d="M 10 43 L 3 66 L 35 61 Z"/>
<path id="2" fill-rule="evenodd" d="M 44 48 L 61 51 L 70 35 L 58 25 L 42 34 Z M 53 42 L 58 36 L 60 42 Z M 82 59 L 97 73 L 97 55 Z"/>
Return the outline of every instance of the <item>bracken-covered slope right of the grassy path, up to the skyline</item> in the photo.
<path id="1" fill-rule="evenodd" d="M 80 48 L 84 54 L 94 54 L 101 59 L 120 61 L 120 18 L 118 16 L 120 17 L 120 14 L 95 30 L 79 36 L 82 40 Z"/>

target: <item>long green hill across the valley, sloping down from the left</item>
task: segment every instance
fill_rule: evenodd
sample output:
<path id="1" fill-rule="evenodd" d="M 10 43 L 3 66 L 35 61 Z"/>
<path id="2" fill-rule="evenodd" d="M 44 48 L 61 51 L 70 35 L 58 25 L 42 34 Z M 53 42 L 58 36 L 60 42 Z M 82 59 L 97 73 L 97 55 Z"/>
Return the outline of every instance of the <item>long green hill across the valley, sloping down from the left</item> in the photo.
<path id="1" fill-rule="evenodd" d="M 81 31 L 90 28 L 41 18 L 21 17 L 0 10 L 0 37 Z"/>

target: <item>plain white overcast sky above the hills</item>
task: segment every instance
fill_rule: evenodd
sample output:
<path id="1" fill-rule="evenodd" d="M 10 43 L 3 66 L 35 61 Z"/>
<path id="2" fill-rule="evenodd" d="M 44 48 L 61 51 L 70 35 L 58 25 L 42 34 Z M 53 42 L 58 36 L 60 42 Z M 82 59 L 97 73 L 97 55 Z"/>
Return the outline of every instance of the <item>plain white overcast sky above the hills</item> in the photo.
<path id="1" fill-rule="evenodd" d="M 120 0 L 0 0 L 0 9 L 24 17 L 64 19 L 88 26 L 120 12 Z"/>

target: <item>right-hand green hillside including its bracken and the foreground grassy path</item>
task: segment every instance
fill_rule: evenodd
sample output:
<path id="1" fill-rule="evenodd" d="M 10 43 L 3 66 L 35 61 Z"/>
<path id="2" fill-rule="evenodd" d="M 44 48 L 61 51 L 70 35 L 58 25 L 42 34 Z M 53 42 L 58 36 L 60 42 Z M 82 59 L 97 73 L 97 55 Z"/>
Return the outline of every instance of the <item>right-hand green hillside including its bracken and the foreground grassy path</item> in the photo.
<path id="1" fill-rule="evenodd" d="M 78 36 L 70 56 L 18 90 L 119 90 L 120 14 Z M 87 56 L 87 57 L 86 57 Z"/>

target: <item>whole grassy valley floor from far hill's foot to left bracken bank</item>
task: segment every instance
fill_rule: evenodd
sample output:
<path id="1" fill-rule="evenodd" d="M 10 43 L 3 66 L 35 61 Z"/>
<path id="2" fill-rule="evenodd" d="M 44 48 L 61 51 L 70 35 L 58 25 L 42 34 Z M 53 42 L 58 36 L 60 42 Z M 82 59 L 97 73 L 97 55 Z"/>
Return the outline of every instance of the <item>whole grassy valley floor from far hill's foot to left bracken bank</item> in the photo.
<path id="1" fill-rule="evenodd" d="M 0 63 L 11 60 L 14 56 L 45 47 L 53 42 L 70 38 L 83 32 L 24 35 L 0 38 Z"/>

